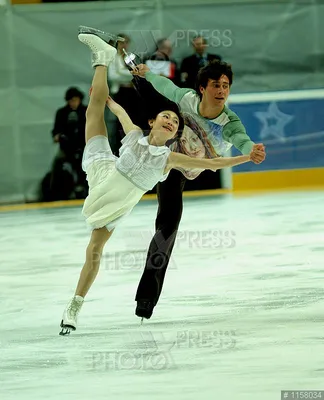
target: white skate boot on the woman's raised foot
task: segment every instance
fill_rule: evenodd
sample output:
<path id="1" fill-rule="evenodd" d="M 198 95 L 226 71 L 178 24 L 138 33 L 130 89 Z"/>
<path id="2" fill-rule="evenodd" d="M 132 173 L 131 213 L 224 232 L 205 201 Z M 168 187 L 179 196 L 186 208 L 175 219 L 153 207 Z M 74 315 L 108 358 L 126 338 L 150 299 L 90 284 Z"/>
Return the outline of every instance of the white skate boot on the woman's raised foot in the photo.
<path id="1" fill-rule="evenodd" d="M 108 67 L 117 54 L 117 50 L 110 46 L 94 33 L 79 33 L 78 39 L 80 42 L 90 47 L 92 51 L 92 67 L 104 65 Z"/>

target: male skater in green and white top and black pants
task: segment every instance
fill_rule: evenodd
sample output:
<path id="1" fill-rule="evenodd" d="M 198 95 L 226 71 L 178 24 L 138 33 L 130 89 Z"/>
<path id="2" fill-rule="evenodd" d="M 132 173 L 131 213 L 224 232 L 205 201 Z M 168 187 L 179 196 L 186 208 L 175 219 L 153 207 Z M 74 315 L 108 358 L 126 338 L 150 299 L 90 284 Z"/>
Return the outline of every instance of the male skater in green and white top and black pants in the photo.
<path id="1" fill-rule="evenodd" d="M 153 74 L 149 68 L 140 64 L 133 72 L 134 76 L 145 78 L 161 95 L 176 102 L 182 112 L 194 118 L 196 127 L 213 137 L 213 147 L 218 155 L 223 155 L 232 145 L 246 155 L 254 148 L 252 161 L 259 164 L 265 159 L 263 144 L 255 144 L 246 134 L 239 117 L 226 105 L 233 82 L 231 65 L 226 62 L 212 61 L 203 67 L 197 76 L 196 90 L 179 88 L 168 78 Z M 135 82 L 138 82 L 135 80 Z M 145 85 L 144 85 L 145 86 Z M 138 83 L 139 90 L 141 83 Z M 194 126 L 190 126 L 194 130 Z M 156 232 L 150 243 L 145 269 L 137 289 L 135 314 L 149 319 L 156 306 L 175 243 L 182 216 L 182 192 L 186 177 L 182 172 L 173 170 L 165 182 L 158 183 L 158 214 Z"/>

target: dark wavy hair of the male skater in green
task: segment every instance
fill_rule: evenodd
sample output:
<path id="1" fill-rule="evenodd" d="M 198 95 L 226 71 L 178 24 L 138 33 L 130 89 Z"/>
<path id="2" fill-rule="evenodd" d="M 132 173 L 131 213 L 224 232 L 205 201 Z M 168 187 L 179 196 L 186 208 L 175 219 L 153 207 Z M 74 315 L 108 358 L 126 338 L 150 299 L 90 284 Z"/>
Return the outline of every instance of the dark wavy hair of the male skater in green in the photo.
<path id="1" fill-rule="evenodd" d="M 200 93 L 200 86 L 206 88 L 209 79 L 218 81 L 222 75 L 227 76 L 230 86 L 233 83 L 233 71 L 231 64 L 227 64 L 224 61 L 212 60 L 205 67 L 201 68 L 198 72 L 196 80 L 196 92 L 199 97 L 202 97 Z"/>

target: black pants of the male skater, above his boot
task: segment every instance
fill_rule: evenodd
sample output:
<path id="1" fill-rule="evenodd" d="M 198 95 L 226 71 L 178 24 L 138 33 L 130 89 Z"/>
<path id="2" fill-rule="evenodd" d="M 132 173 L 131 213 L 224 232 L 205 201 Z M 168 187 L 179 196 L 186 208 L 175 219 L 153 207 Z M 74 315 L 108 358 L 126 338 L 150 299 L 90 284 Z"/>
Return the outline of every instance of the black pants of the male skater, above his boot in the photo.
<path id="1" fill-rule="evenodd" d="M 182 216 L 182 192 L 186 178 L 171 170 L 166 181 L 158 183 L 158 214 L 155 235 L 150 243 L 145 269 L 135 300 L 150 300 L 157 304 Z"/>

